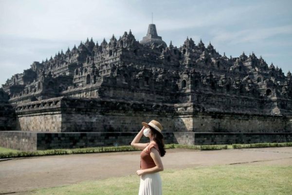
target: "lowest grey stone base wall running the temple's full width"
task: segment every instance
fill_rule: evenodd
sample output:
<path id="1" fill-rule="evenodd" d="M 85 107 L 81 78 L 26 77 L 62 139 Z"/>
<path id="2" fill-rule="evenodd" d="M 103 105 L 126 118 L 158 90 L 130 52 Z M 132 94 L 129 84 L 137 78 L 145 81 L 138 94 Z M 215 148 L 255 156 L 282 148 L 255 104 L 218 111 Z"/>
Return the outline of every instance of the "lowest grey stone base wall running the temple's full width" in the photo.
<path id="1" fill-rule="evenodd" d="M 86 148 L 130 145 L 138 132 L 23 132 L 0 131 L 0 146 L 32 151 L 58 148 Z M 213 145 L 234 143 L 292 142 L 292 133 L 196 133 L 164 132 L 164 143 Z M 149 139 L 142 137 L 141 142 Z"/>

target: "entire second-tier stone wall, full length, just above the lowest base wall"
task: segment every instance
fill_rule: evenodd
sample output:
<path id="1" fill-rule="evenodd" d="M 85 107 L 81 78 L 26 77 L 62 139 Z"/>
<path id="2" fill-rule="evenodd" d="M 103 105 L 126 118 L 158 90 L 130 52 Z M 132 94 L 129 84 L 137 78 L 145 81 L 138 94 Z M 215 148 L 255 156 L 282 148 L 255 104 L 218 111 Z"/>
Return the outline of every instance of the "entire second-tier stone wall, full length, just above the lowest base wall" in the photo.
<path id="1" fill-rule="evenodd" d="M 42 132 L 133 132 L 156 119 L 169 132 L 292 132 L 292 117 L 202 111 L 196 104 L 51 98 L 20 104 L 16 130 Z"/>

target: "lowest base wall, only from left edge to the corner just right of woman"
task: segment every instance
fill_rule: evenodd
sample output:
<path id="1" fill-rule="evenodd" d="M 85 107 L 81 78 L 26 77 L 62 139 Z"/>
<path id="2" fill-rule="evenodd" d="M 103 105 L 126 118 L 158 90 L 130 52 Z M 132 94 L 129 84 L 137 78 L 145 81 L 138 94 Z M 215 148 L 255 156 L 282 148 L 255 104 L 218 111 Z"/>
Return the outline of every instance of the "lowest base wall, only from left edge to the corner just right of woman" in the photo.
<path id="1" fill-rule="evenodd" d="M 66 132 L 44 133 L 24 131 L 0 132 L 0 146 L 23 151 L 59 149 L 59 148 L 85 148 L 99 146 L 130 145 L 139 131 L 118 132 Z M 140 142 L 146 143 L 149 139 L 142 137 Z M 164 132 L 164 143 L 177 143 L 172 133 Z"/>

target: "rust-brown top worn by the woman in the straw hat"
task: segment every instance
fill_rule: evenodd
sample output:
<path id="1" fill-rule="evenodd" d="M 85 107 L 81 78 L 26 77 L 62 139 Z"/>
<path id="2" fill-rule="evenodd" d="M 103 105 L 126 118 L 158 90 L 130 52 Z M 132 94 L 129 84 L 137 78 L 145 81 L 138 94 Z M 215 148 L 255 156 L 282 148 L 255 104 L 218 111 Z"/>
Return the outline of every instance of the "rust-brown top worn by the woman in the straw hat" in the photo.
<path id="1" fill-rule="evenodd" d="M 151 148 L 154 147 L 160 153 L 157 143 L 155 142 L 147 143 L 147 146 L 148 148 L 146 147 L 144 150 L 142 150 L 140 154 L 140 157 L 141 157 L 140 168 L 141 169 L 149 169 L 156 166 L 153 158 L 150 156 Z"/>

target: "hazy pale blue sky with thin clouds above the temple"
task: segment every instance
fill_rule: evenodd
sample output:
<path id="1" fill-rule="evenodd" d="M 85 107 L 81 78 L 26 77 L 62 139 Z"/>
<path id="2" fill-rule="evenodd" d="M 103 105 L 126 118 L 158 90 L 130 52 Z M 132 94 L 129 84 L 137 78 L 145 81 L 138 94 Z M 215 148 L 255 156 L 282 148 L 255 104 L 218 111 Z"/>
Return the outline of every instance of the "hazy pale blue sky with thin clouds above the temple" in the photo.
<path id="1" fill-rule="evenodd" d="M 131 29 L 141 40 L 151 12 L 167 45 L 188 36 L 292 71 L 292 0 L 0 0 L 0 84 L 87 38 L 101 43 Z"/>

